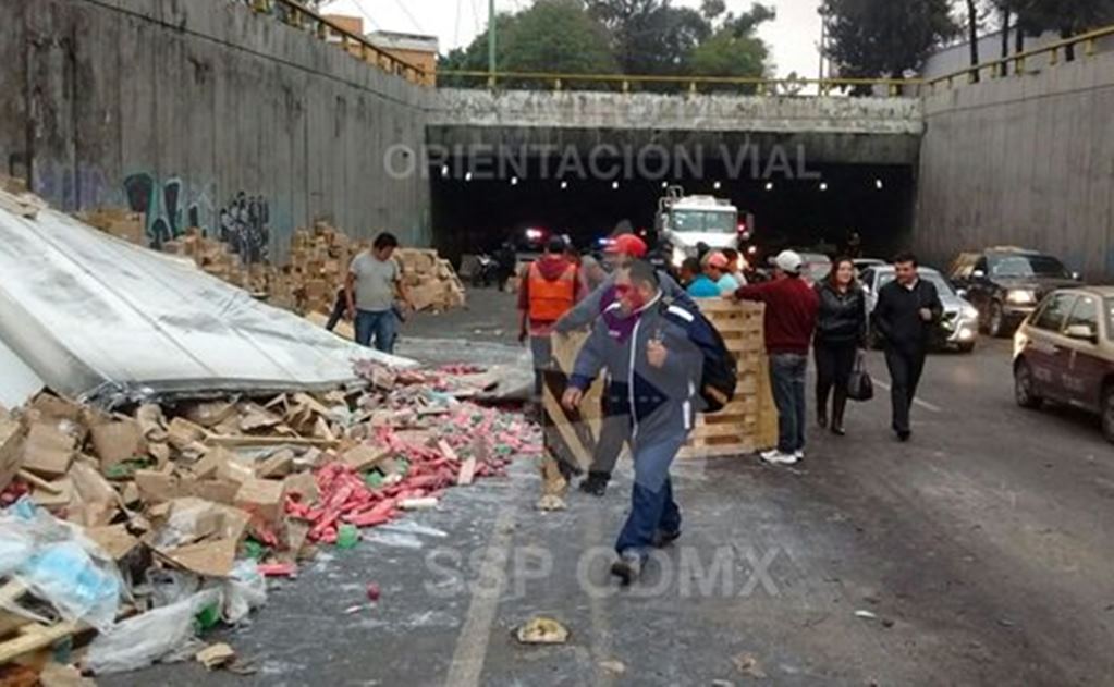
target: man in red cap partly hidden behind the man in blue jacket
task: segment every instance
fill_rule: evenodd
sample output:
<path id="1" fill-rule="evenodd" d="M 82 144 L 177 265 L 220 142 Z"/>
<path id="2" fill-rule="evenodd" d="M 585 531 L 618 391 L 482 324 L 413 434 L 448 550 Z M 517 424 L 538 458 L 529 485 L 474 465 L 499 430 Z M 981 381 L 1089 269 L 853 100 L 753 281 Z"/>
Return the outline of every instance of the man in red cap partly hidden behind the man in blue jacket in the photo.
<path id="1" fill-rule="evenodd" d="M 616 236 L 605 249 L 610 258 L 613 272 L 595 291 L 587 295 L 576 307 L 565 314 L 554 325 L 554 332 L 564 334 L 574 330 L 585 328 L 593 323 L 609 307 L 619 302 L 619 295 L 615 287 L 617 276 L 626 275 L 629 266 L 635 261 L 646 257 L 646 243 L 634 234 L 622 234 Z M 662 297 L 665 302 L 680 303 L 685 306 L 694 306 L 692 298 L 668 274 L 657 273 Z M 607 372 L 610 377 L 610 371 Z M 631 418 L 626 411 L 626 399 L 603 398 L 604 419 L 600 423 L 599 440 L 596 442 L 596 450 L 592 457 L 592 467 L 588 468 L 588 477 L 580 482 L 580 491 L 602 497 L 607 492 L 607 483 L 612 479 L 615 463 L 623 451 L 623 442 L 631 436 Z"/>

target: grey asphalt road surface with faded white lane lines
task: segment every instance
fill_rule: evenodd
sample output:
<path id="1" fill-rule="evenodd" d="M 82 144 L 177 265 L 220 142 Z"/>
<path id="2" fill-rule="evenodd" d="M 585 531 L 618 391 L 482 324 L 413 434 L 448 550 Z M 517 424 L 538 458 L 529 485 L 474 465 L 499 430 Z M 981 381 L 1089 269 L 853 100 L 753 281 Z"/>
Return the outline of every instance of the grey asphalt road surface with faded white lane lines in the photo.
<path id="1" fill-rule="evenodd" d="M 509 296 L 472 303 L 404 335 L 510 338 Z M 849 409 L 847 438 L 812 428 L 799 469 L 678 464 L 684 534 L 634 588 L 607 575 L 629 465 L 606 498 L 539 513 L 522 461 L 280 583 L 251 627 L 218 636 L 255 675 L 187 664 L 100 684 L 1114 683 L 1114 450 L 1096 421 L 1018 409 L 1008 342 L 930 360 L 909 444 L 878 391 Z M 535 615 L 568 641 L 519 645 Z"/>

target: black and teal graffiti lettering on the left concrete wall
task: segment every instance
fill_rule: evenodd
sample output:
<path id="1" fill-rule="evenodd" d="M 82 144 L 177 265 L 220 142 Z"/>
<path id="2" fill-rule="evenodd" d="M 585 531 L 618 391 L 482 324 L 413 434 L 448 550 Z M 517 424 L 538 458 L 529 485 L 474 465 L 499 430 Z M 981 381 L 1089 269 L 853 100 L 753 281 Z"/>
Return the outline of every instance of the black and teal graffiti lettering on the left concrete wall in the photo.
<path id="1" fill-rule="evenodd" d="M 124 179 L 128 207 L 144 216 L 147 241 L 153 248 L 197 228 L 202 236 L 216 238 L 250 265 L 270 258 L 271 208 L 262 195 L 241 190 L 216 208 L 213 185 L 187 186 L 179 177 L 159 180 L 147 173 Z"/>

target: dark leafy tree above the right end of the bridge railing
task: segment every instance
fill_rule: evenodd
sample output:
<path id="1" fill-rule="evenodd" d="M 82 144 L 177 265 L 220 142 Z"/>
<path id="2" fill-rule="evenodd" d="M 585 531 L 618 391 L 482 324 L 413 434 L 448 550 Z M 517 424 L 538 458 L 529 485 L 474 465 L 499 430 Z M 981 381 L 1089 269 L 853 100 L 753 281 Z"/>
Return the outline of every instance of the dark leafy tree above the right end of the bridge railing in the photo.
<path id="1" fill-rule="evenodd" d="M 960 31 L 949 0 L 824 0 L 820 11 L 824 52 L 850 78 L 900 78 Z"/>

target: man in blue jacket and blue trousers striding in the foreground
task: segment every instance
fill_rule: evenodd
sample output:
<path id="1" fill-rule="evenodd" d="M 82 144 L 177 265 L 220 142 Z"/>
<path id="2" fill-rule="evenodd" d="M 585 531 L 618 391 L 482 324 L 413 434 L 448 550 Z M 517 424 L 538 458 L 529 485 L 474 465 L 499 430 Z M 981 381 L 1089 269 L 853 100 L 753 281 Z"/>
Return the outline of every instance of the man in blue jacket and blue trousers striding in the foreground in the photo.
<path id="1" fill-rule="evenodd" d="M 625 400 L 635 483 L 612 573 L 631 583 L 652 547 L 681 536 L 670 465 L 703 404 L 695 393 L 704 360 L 697 343 L 711 342 L 712 335 L 692 306 L 663 302 L 658 273 L 648 263 L 631 265 L 616 277 L 615 288 L 618 301 L 580 349 L 561 402 L 575 410 L 604 367 L 612 374 L 607 395 Z"/>

